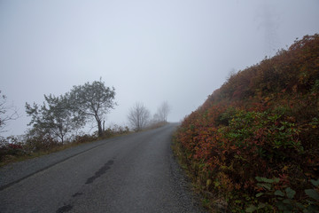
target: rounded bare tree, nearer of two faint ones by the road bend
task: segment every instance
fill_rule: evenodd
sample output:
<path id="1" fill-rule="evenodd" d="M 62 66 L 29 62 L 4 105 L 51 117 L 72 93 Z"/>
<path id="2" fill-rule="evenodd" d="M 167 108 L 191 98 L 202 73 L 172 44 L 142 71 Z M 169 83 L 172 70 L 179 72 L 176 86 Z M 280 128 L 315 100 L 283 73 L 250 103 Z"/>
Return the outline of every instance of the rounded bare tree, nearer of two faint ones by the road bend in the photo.
<path id="1" fill-rule="evenodd" d="M 135 131 L 143 130 L 150 119 L 150 111 L 139 102 L 131 107 L 128 112 L 128 122 Z"/>

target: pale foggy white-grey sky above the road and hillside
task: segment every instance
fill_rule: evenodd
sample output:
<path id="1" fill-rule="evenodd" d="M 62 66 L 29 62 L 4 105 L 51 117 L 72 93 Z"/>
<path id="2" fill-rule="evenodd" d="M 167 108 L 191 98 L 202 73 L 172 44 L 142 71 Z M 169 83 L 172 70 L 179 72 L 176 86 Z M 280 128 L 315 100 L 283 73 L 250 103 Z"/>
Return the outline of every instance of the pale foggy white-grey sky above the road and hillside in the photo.
<path id="1" fill-rule="evenodd" d="M 8 134 L 22 134 L 25 103 L 73 85 L 114 86 L 107 124 L 126 124 L 143 102 L 167 100 L 178 122 L 224 83 L 319 33 L 319 0 L 0 0 L 0 90 L 19 109 Z"/>

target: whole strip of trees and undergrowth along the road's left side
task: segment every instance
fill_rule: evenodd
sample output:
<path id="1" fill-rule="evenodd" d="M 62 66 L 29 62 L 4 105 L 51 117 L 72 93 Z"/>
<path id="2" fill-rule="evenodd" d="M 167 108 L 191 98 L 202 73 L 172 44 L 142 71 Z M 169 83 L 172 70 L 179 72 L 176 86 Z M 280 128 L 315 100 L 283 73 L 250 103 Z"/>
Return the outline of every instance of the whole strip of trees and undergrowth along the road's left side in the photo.
<path id="1" fill-rule="evenodd" d="M 31 128 L 26 134 L 4 138 L 1 133 L 4 132 L 6 123 L 17 119 L 19 115 L 14 106 L 7 105 L 6 97 L 1 96 L 0 91 L 0 166 L 97 139 L 128 134 L 128 126 L 115 124 L 105 127 L 105 115 L 117 105 L 114 99 L 115 89 L 105 86 L 102 79 L 74 86 L 71 91 L 60 96 L 44 95 L 43 105 L 26 103 L 27 115 L 31 117 L 28 124 Z M 149 119 L 150 112 L 146 108 L 144 111 L 147 116 L 143 119 L 139 111 L 137 114 L 132 113 L 132 123 L 138 124 L 138 128 L 132 125 L 133 130 L 150 130 L 167 124 L 167 102 L 159 106 L 152 120 Z M 88 122 L 97 124 L 96 132 L 82 132 Z"/>

